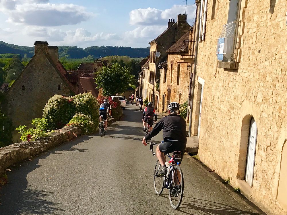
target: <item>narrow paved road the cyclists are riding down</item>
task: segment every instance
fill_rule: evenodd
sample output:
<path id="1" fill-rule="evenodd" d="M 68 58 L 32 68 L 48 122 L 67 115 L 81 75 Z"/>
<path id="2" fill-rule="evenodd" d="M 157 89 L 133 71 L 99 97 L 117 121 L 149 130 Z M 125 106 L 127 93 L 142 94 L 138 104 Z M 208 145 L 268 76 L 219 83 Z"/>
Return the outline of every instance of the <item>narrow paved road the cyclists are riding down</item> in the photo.
<path id="1" fill-rule="evenodd" d="M 11 168 L 0 214 L 262 214 L 188 155 L 183 201 L 173 210 L 167 189 L 154 192 L 156 158 L 141 143 L 141 112 L 128 105 L 124 114 L 104 137 L 81 136 Z"/>

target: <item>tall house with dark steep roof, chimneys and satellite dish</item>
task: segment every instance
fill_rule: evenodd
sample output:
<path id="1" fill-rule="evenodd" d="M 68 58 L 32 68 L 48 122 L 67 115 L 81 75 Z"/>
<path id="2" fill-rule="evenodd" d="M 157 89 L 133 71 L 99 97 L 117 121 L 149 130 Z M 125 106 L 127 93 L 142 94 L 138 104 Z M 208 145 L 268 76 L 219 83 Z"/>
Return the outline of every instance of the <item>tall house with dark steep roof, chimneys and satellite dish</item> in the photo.
<path id="1" fill-rule="evenodd" d="M 148 98 L 149 101 L 153 101 L 155 107 L 157 107 L 158 104 L 159 84 L 157 85 L 157 83 L 159 83 L 160 79 L 160 71 L 157 63 L 166 61 L 166 50 L 168 50 L 168 48 L 188 32 L 190 25 L 186 20 L 186 14 L 177 15 L 177 22 L 175 22 L 174 19 L 169 19 L 167 29 L 160 34 L 160 36 L 150 42 L 149 72 L 146 77 L 148 78 L 148 82 L 144 82 L 142 85 L 142 93 L 143 98 Z M 160 53 L 160 56 L 156 56 L 157 52 Z"/>

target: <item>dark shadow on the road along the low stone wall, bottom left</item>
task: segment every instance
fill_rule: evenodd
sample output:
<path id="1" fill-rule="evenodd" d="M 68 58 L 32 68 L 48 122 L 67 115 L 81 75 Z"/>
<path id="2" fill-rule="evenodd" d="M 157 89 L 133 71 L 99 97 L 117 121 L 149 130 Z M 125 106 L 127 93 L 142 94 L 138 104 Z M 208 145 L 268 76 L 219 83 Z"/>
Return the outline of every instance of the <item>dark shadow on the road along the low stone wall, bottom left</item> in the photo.
<path id="1" fill-rule="evenodd" d="M 51 154 L 61 154 L 59 151 L 86 152 L 86 149 L 73 148 L 80 142 L 89 140 L 90 136 L 80 136 L 71 142 L 55 146 L 41 155 L 32 159 L 32 161 L 24 161 L 10 168 L 12 172 L 8 173 L 9 183 L 0 189 L 0 214 L 55 214 L 57 211 L 65 211 L 60 209 L 60 203 L 47 201 L 46 196 L 53 195 L 52 192 L 46 192 L 39 189 L 32 189 L 28 185 L 26 179 L 28 173 L 41 167 L 38 163 L 40 159 L 44 159 Z M 19 168 L 21 166 L 21 168 Z M 61 213 L 62 214 L 62 213 Z"/>

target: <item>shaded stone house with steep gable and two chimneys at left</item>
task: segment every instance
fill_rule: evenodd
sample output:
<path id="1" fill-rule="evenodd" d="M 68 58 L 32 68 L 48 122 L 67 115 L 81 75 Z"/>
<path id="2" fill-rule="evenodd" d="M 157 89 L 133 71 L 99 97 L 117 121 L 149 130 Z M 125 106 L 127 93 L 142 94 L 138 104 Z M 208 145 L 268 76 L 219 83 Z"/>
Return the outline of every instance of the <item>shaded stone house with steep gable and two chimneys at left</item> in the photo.
<path id="1" fill-rule="evenodd" d="M 41 118 L 51 96 L 79 93 L 79 79 L 67 73 L 58 60 L 58 47 L 39 41 L 34 45 L 34 56 L 5 93 L 5 101 L 1 104 L 15 127 Z M 18 140 L 20 136 L 15 131 L 13 141 Z"/>

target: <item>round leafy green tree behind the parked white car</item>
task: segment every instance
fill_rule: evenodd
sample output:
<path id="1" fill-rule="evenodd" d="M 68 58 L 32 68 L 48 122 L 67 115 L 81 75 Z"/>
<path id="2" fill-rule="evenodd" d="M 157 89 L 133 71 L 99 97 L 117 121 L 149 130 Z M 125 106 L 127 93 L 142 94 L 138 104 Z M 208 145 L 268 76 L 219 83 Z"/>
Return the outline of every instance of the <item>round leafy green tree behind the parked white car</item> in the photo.
<path id="1" fill-rule="evenodd" d="M 127 67 L 122 67 L 119 63 L 111 67 L 103 66 L 102 71 L 98 71 L 95 78 L 97 88 L 102 88 L 105 96 L 125 92 L 133 81 L 134 76 L 129 73 Z"/>

